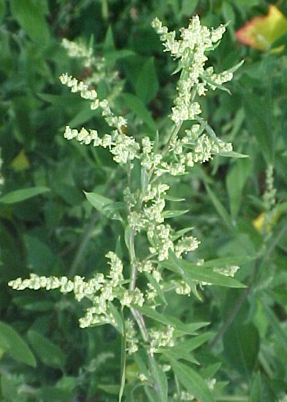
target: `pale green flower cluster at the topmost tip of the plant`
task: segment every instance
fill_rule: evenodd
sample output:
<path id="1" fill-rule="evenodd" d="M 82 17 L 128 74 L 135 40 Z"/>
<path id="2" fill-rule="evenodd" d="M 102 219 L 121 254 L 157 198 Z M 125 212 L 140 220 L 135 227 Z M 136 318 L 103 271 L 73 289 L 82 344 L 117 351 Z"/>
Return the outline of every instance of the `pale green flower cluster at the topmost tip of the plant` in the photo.
<path id="1" fill-rule="evenodd" d="M 189 21 L 188 28 L 180 30 L 181 39 L 176 40 L 175 31 L 168 32 L 168 28 L 163 26 L 158 18 L 155 18 L 151 25 L 160 35 L 165 51 L 170 52 L 175 59 L 180 59 L 175 72 L 182 72 L 177 82 L 177 97 L 171 119 L 176 125 L 181 125 L 185 120 L 196 120 L 201 114 L 201 108 L 199 103 L 194 101 L 195 96 L 206 94 L 206 84 L 216 87 L 232 79 L 231 72 L 212 74 L 213 70 L 207 70 L 207 73 L 204 70 L 208 59 L 205 52 L 213 50 L 216 42 L 221 40 L 225 26 L 220 25 L 209 30 L 201 25 L 199 16 L 194 16 Z"/>

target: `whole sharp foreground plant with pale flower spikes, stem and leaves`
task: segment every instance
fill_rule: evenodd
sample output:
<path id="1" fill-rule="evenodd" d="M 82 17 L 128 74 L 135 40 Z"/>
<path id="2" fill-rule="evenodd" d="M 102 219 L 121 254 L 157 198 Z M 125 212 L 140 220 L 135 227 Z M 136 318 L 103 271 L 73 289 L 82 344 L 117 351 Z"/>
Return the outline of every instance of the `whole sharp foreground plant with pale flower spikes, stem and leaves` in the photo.
<path id="1" fill-rule="evenodd" d="M 212 402 L 223 393 L 216 383 L 216 367 L 201 368 L 192 351 L 211 338 L 211 333 L 198 335 L 206 322 L 185 323 L 180 316 L 170 316 L 172 294 L 201 299 L 207 285 L 244 287 L 233 276 L 238 265 L 248 258 L 227 258 L 204 261 L 197 248 L 200 239 L 189 234 L 192 228 L 177 230 L 175 218 L 187 211 L 169 210 L 168 191 L 180 182 L 182 175 L 192 174 L 196 163 L 205 163 L 216 155 L 237 156 L 230 143 L 216 136 L 209 122 L 201 116 L 200 97 L 209 90 L 228 91 L 223 84 L 233 79 L 242 62 L 226 71 L 216 72 L 206 67 L 209 52 L 220 43 L 225 25 L 207 28 L 199 16 L 180 30 L 180 39 L 158 18 L 153 28 L 163 42 L 165 52 L 177 60 L 174 74 L 177 95 L 170 114 L 168 131 L 153 132 L 153 137 L 136 132 L 129 134 L 129 121 L 112 111 L 112 97 L 100 98 L 97 88 L 65 73 L 61 84 L 90 102 L 91 110 L 100 115 L 110 130 L 98 132 L 82 127 L 66 126 L 64 137 L 76 139 L 86 147 L 102 147 L 112 154 L 115 169 L 126 175 L 122 187 L 123 200 L 116 202 L 98 193 L 86 193 L 95 209 L 122 227 L 116 250 L 106 254 L 109 270 L 95 267 L 95 275 L 85 279 L 80 275 L 41 276 L 11 280 L 13 289 L 59 289 L 74 293 L 78 302 L 89 302 L 80 318 L 81 328 L 110 324 L 121 338 L 121 373 L 119 384 L 110 387 L 122 401 L 195 401 Z M 81 45 L 64 40 L 64 47 L 73 57 L 82 57 L 87 67 L 93 54 Z M 101 64 L 102 65 L 102 64 Z M 101 70 L 98 69 L 100 74 Z M 97 77 L 94 77 L 95 81 Z M 115 77 L 114 77 L 115 78 Z M 112 77 L 110 77 L 112 82 Z M 110 88 L 113 88 L 110 85 Z M 140 173 L 139 173 L 140 172 Z M 120 195 L 117 196 L 117 200 Z M 174 225 L 170 222 L 174 219 Z M 125 244 L 125 247 L 124 247 Z M 96 329 L 95 329 L 96 331 Z M 133 364 L 133 376 L 126 380 L 127 367 Z M 199 368 L 200 367 L 200 368 Z M 109 390 L 110 384 L 103 384 Z M 117 385 L 117 384 L 116 384 Z"/>

